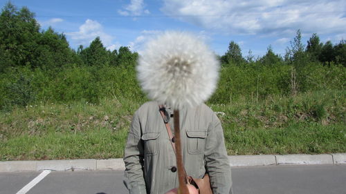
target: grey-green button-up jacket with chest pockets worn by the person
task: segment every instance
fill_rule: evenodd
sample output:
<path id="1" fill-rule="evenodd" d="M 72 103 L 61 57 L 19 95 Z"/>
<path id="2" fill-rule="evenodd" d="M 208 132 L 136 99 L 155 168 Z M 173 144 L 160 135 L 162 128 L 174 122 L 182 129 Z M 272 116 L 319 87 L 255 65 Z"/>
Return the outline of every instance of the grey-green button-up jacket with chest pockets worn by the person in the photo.
<path id="1" fill-rule="evenodd" d="M 179 115 L 188 175 L 201 178 L 208 172 L 214 194 L 232 193 L 224 132 L 215 113 L 201 104 L 183 108 Z M 163 194 L 178 186 L 176 158 L 156 101 L 143 104 L 134 114 L 124 162 L 124 183 L 131 194 Z"/>

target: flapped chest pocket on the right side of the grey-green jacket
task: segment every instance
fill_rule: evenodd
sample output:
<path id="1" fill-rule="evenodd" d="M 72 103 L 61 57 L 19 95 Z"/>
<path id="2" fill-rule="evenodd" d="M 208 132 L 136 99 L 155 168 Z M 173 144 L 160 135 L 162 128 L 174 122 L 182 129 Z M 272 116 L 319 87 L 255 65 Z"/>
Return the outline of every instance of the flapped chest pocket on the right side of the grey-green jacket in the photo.
<path id="1" fill-rule="evenodd" d="M 188 153 L 203 153 L 206 146 L 206 130 L 186 130 L 186 135 L 188 136 Z"/>

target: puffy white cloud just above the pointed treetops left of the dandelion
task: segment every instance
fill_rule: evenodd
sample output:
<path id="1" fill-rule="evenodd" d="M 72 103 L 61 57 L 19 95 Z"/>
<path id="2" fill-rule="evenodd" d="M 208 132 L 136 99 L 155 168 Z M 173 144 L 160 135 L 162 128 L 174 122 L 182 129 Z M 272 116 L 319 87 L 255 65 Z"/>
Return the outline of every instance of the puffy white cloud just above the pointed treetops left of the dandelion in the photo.
<path id="1" fill-rule="evenodd" d="M 86 19 L 85 23 L 80 26 L 78 32 L 68 32 L 66 33 L 71 37 L 72 41 L 76 45 L 89 46 L 89 43 L 93 41 L 96 37 L 100 37 L 103 46 L 106 48 L 113 48 L 113 39 L 111 35 L 104 32 L 103 27 L 98 21 L 93 21 L 91 19 Z"/>

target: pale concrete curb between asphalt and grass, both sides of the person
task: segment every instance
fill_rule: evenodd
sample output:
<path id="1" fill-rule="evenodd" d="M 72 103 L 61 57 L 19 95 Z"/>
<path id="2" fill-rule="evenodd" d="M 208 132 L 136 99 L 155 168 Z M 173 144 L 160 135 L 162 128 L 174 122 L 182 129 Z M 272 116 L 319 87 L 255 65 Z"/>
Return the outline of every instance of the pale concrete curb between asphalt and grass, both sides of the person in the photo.
<path id="1" fill-rule="evenodd" d="M 231 155 L 230 166 L 346 164 L 346 153 L 321 155 Z M 0 173 L 16 171 L 95 171 L 125 169 L 121 158 L 0 162 Z"/>

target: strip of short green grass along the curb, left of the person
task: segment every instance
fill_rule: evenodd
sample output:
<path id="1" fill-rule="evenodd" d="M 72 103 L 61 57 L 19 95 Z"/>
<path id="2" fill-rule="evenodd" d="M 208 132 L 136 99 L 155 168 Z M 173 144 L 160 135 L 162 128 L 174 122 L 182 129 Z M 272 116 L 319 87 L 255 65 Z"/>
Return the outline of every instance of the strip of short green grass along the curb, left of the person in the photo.
<path id="1" fill-rule="evenodd" d="M 80 159 L 121 157 L 127 131 L 100 127 L 77 133 L 20 135 L 4 142 L 2 160 Z"/>

